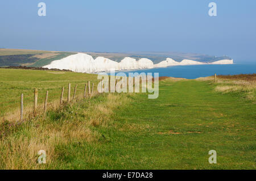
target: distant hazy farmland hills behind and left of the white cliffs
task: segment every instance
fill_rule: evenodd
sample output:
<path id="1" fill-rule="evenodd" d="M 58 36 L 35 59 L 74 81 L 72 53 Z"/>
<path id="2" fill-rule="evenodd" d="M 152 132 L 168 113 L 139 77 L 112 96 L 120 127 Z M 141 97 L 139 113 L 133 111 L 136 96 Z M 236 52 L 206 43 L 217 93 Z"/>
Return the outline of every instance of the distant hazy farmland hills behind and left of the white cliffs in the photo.
<path id="1" fill-rule="evenodd" d="M 0 67 L 2 66 L 30 66 L 43 67 L 51 64 L 52 61 L 61 60 L 78 52 L 56 52 L 44 50 L 23 50 L 23 49 L 1 49 L 0 48 Z M 147 58 L 154 64 L 165 61 L 167 58 L 172 58 L 177 62 L 183 60 L 195 60 L 204 63 L 212 63 L 218 60 L 232 60 L 227 56 L 216 57 L 204 54 L 195 53 L 177 53 L 177 52 L 131 52 L 131 53 L 108 53 L 108 52 L 84 52 L 89 54 L 94 59 L 97 57 L 105 57 L 110 60 L 121 62 L 125 57 L 139 60 Z"/>

